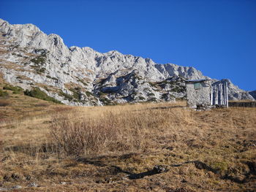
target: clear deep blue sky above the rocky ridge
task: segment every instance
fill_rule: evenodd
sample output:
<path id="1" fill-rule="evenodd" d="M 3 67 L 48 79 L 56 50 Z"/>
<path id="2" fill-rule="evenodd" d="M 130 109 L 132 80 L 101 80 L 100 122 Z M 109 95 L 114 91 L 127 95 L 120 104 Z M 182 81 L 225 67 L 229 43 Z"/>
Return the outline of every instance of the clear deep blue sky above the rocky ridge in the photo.
<path id="1" fill-rule="evenodd" d="M 0 0 L 0 18 L 256 89 L 256 0 Z"/>

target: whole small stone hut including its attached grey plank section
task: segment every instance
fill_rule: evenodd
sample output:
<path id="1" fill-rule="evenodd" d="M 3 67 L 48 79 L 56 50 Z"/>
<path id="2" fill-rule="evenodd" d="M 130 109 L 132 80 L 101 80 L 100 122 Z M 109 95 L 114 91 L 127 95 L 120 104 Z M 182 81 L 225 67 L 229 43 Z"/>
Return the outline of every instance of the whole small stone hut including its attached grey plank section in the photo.
<path id="1" fill-rule="evenodd" d="M 228 107 L 227 82 L 211 80 L 187 80 L 187 104 L 192 108 Z"/>

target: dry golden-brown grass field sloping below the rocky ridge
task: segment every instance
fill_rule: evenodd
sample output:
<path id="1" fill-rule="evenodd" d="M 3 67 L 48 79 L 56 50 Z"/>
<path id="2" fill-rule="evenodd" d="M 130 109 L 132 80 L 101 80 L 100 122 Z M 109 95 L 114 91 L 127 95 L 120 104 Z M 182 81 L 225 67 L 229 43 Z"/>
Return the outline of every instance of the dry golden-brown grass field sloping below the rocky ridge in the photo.
<path id="1" fill-rule="evenodd" d="M 256 191 L 255 108 L 67 107 L 9 94 L 0 191 Z"/>

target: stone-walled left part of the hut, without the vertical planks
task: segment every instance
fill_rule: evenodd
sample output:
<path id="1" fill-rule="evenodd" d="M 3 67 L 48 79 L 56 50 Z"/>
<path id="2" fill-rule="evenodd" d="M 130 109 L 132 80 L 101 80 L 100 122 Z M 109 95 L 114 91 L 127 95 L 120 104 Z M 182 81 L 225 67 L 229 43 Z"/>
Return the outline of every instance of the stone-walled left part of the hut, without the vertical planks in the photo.
<path id="1" fill-rule="evenodd" d="M 211 105 L 211 80 L 187 80 L 187 104 L 189 107 L 206 107 Z"/>

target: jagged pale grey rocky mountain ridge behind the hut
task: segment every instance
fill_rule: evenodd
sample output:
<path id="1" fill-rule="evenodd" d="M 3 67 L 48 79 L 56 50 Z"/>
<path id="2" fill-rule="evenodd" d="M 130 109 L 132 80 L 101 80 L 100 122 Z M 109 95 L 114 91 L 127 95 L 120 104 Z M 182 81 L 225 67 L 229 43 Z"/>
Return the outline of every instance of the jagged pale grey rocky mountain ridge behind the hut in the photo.
<path id="1" fill-rule="evenodd" d="M 156 64 L 113 50 L 67 47 L 57 34 L 0 19 L 0 72 L 24 90 L 42 91 L 70 105 L 172 101 L 186 97 L 184 80 L 208 78 L 194 67 Z M 215 80 L 213 80 L 215 81 Z M 253 99 L 230 80 L 230 99 Z"/>

